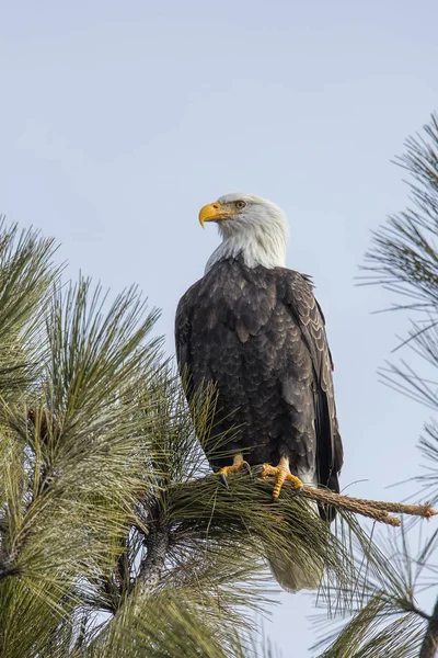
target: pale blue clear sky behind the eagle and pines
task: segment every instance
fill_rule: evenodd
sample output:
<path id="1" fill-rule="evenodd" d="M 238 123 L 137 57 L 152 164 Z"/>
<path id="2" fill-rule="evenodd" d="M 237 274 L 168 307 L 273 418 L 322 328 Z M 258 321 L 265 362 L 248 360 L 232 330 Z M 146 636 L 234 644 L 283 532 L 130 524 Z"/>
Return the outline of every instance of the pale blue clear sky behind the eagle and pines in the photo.
<path id="1" fill-rule="evenodd" d="M 0 4 L 0 212 L 61 242 L 114 292 L 137 282 L 173 352 L 178 298 L 218 243 L 204 204 L 235 191 L 287 213 L 287 263 L 327 321 L 345 443 L 342 486 L 418 472 L 428 412 L 378 382 L 403 333 L 357 287 L 370 230 L 406 205 L 390 162 L 438 110 L 436 0 L 18 1 Z M 360 481 L 358 481 L 360 480 Z M 311 599 L 284 594 L 267 633 L 314 640 Z"/>

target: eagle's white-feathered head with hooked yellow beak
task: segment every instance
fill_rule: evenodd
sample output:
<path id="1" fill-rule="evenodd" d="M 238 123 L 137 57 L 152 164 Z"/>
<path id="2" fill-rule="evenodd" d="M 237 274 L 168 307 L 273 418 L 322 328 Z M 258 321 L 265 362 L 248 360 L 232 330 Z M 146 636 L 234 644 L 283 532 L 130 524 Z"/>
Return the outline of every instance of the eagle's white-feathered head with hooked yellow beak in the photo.
<path id="1" fill-rule="evenodd" d="M 226 258 L 241 256 L 245 265 L 285 266 L 288 225 L 274 203 L 253 194 L 226 194 L 204 206 L 199 223 L 216 222 L 222 243 L 207 261 L 206 272 Z"/>

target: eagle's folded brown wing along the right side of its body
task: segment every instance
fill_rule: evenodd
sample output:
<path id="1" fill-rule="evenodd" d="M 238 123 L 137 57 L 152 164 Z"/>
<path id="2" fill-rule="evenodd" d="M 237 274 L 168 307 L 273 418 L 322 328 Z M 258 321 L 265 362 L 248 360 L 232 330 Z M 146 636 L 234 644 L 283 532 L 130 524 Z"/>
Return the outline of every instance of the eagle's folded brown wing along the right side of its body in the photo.
<path id="1" fill-rule="evenodd" d="M 337 475 L 343 464 L 343 446 L 337 426 L 333 389 L 333 361 L 325 333 L 324 316 L 313 296 L 308 277 L 284 270 L 278 295 L 301 330 L 312 361 L 312 392 L 316 434 L 318 481 L 339 490 Z"/>

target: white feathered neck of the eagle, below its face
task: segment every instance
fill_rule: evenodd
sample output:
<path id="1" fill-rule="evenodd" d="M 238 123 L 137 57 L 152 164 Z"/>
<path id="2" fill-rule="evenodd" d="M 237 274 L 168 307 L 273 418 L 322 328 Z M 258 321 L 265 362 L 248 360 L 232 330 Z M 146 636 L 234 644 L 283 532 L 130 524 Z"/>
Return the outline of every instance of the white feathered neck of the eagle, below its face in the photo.
<path id="1" fill-rule="evenodd" d="M 206 264 L 206 273 L 221 260 L 241 258 L 247 268 L 262 265 L 272 270 L 284 268 L 286 263 L 287 234 L 263 231 L 240 234 L 227 237 L 211 253 Z"/>

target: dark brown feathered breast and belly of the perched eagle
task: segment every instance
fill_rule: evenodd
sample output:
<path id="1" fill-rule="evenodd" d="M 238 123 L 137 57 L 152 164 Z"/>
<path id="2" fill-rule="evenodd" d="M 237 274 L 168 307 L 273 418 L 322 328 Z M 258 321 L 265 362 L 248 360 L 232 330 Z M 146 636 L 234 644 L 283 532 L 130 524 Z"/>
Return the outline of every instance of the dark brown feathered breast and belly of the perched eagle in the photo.
<path id="1" fill-rule="evenodd" d="M 192 384 L 217 385 L 212 442 L 232 433 L 228 449 L 242 449 L 250 463 L 287 453 L 309 473 L 315 468 L 312 362 L 279 296 L 281 275 L 281 268 L 251 269 L 232 259 L 188 291 Z"/>

